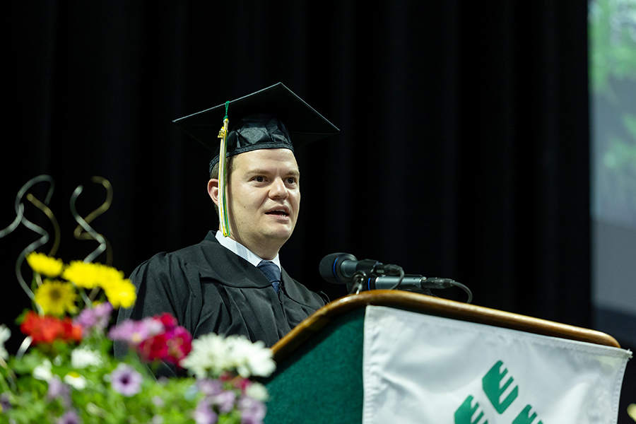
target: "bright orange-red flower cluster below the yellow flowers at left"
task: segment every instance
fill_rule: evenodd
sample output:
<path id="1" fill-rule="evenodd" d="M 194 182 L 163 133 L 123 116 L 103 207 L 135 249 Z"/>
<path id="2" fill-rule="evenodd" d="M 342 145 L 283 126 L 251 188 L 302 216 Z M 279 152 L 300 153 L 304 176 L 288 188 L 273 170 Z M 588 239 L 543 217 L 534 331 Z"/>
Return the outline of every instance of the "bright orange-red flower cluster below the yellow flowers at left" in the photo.
<path id="1" fill-rule="evenodd" d="M 57 317 L 40 317 L 33 311 L 27 312 L 20 324 L 20 331 L 33 338 L 33 343 L 53 343 L 60 338 L 63 341 L 81 341 L 82 327 L 73 325 L 70 318 L 61 321 Z"/>

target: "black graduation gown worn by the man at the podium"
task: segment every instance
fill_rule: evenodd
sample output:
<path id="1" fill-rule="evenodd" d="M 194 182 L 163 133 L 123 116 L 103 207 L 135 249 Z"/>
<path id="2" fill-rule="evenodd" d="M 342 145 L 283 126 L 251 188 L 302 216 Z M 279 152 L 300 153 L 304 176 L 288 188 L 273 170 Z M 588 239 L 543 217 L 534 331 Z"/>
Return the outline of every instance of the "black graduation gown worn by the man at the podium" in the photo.
<path id="1" fill-rule="evenodd" d="M 198 245 L 156 254 L 130 278 L 137 300 L 119 311 L 117 322 L 170 312 L 194 338 L 242 334 L 271 347 L 325 303 L 284 269 L 276 294 L 266 276 L 220 245 L 213 231 Z M 122 343 L 115 343 L 115 355 L 125 352 Z"/>

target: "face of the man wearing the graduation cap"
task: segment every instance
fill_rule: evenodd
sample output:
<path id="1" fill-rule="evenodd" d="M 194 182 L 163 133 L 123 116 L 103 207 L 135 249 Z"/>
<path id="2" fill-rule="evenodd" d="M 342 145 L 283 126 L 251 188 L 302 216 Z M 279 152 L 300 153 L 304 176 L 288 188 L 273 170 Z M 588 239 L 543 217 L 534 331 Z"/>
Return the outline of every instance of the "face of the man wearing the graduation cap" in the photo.
<path id="1" fill-rule="evenodd" d="M 286 148 L 240 153 L 233 161 L 228 190 L 230 235 L 259 256 L 272 259 L 298 219 L 298 164 Z M 273 250 L 272 258 L 266 258 Z"/>

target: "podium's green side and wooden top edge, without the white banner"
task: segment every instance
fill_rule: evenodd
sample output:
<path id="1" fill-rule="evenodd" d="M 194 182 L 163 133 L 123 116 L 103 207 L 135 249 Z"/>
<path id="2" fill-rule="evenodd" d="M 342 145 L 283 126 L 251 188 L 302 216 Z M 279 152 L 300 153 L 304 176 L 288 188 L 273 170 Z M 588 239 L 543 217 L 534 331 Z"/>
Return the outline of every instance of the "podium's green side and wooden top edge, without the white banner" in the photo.
<path id="1" fill-rule="evenodd" d="M 362 423 L 367 305 L 620 347 L 607 334 L 397 290 L 372 290 L 331 302 L 273 346 L 278 367 L 264 382 L 265 423 Z"/>

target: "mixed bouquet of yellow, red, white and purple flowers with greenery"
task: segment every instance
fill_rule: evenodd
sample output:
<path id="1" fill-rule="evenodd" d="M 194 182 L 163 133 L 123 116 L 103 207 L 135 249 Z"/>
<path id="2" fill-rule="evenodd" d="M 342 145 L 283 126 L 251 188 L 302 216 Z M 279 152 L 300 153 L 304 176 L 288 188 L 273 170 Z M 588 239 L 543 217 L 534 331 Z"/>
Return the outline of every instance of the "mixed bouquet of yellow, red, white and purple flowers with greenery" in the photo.
<path id="1" fill-rule="evenodd" d="M 5 423 L 261 423 L 266 377 L 275 364 L 262 342 L 208 334 L 197 340 L 170 314 L 108 328 L 111 314 L 130 307 L 135 288 L 102 264 L 64 264 L 44 254 L 33 269 L 34 310 L 19 318 L 26 336 L 18 353 L 0 325 L 0 421 Z M 127 343 L 124 360 L 113 341 Z M 189 377 L 155 379 L 159 362 Z"/>

